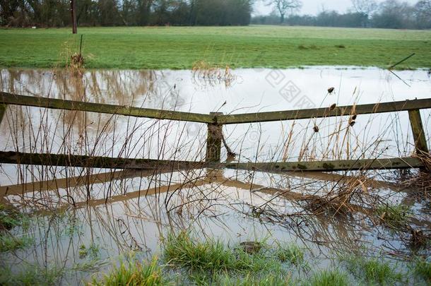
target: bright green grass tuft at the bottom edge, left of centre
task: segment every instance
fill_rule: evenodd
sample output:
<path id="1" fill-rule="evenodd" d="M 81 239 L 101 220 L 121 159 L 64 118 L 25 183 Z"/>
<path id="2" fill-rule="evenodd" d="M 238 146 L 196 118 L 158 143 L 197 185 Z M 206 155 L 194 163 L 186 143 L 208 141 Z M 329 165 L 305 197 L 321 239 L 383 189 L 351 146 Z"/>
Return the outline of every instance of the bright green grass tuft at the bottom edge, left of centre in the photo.
<path id="1" fill-rule="evenodd" d="M 88 285 L 105 285 L 105 286 L 118 286 L 118 285 L 166 285 L 167 282 L 163 279 L 162 268 L 158 266 L 157 259 L 148 264 L 139 263 L 134 259 L 129 261 L 122 261 L 119 267 L 110 271 L 109 275 L 105 275 L 102 280 L 93 278 L 92 282 Z"/>

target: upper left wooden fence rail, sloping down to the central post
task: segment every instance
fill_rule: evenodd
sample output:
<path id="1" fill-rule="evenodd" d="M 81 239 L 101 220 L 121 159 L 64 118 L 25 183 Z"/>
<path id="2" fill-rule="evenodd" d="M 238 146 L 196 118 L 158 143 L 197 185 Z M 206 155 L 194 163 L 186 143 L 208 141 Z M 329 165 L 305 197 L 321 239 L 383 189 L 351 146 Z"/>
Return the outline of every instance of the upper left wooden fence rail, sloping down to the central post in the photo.
<path id="1" fill-rule="evenodd" d="M 176 112 L 161 109 L 148 109 L 119 105 L 105 105 L 102 103 L 79 102 L 74 100 L 58 100 L 54 98 L 13 95 L 0 92 L 0 103 L 4 105 L 24 105 L 30 107 L 45 107 L 51 109 L 77 110 L 83 112 L 98 112 L 105 114 L 125 115 L 128 117 L 146 117 L 152 119 L 169 119 L 176 121 L 191 121 L 211 123 L 213 117 L 209 114 Z"/>

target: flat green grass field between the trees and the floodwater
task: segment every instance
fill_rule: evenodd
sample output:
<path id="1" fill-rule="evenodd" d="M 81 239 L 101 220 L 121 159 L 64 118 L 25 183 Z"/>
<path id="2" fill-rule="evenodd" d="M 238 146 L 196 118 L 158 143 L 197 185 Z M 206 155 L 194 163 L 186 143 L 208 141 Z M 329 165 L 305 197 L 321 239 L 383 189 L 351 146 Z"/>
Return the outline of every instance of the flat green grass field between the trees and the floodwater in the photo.
<path id="1" fill-rule="evenodd" d="M 64 66 L 84 35 L 87 68 L 232 68 L 340 65 L 431 67 L 430 30 L 249 27 L 0 29 L 0 66 Z"/>

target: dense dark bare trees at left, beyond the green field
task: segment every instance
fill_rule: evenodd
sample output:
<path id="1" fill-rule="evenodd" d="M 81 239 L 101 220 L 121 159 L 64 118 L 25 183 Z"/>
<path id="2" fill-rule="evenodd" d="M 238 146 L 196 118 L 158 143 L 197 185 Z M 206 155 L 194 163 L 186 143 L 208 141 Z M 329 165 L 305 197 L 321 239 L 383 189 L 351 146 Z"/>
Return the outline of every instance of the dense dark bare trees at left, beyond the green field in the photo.
<path id="1" fill-rule="evenodd" d="M 253 0 L 78 0 L 79 26 L 249 25 Z M 0 25 L 71 25 L 69 0 L 0 0 Z"/>

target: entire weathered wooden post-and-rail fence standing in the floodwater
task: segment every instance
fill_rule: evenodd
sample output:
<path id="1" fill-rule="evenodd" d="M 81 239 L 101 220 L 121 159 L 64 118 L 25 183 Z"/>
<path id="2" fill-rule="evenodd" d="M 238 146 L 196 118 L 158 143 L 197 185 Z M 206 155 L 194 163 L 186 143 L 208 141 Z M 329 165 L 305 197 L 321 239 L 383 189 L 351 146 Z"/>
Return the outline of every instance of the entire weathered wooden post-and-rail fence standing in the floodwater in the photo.
<path id="1" fill-rule="evenodd" d="M 41 153 L 0 152 L 0 163 L 22 165 L 54 165 L 66 167 L 96 167 L 108 169 L 190 169 L 190 168 L 230 168 L 253 169 L 261 171 L 343 171 L 359 169 L 410 169 L 423 168 L 421 157 L 429 157 L 420 109 L 431 108 L 431 98 L 422 100 L 405 100 L 384 102 L 371 105 L 348 105 L 318 109 L 286 110 L 280 112 L 258 112 L 249 114 L 211 113 L 197 114 L 160 109 L 106 105 L 73 100 L 59 100 L 46 97 L 33 97 L 0 93 L 0 124 L 7 105 L 65 109 L 83 112 L 124 115 L 127 117 L 145 117 L 150 119 L 191 121 L 207 124 L 206 160 L 202 162 L 131 159 L 118 157 L 94 157 L 86 155 L 59 155 Z M 223 125 L 245 124 L 268 121 L 287 121 L 295 119 L 314 119 L 326 117 L 347 117 L 359 114 L 376 114 L 386 112 L 408 112 L 413 138 L 415 157 L 398 157 L 393 159 L 358 159 L 332 160 L 315 162 L 256 162 L 256 163 L 222 163 L 220 162 Z"/>

